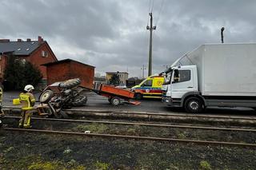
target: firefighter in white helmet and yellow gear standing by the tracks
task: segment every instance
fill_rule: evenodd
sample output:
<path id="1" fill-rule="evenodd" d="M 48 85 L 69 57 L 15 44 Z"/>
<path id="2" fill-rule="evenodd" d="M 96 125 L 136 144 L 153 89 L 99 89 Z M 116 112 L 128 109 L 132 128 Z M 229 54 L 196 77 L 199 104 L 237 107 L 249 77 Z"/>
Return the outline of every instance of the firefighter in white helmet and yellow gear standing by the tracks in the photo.
<path id="1" fill-rule="evenodd" d="M 19 94 L 19 100 L 22 104 L 22 118 L 19 121 L 19 128 L 31 128 L 30 119 L 32 116 L 35 98 L 33 95 L 34 86 L 26 85 L 23 92 Z"/>

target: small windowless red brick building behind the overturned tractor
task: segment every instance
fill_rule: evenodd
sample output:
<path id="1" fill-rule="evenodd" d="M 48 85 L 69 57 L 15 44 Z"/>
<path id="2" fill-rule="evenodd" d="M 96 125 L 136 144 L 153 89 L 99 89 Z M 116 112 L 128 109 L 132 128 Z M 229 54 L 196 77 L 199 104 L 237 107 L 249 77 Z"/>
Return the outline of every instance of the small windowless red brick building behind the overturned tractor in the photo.
<path id="1" fill-rule="evenodd" d="M 81 86 L 92 89 L 94 87 L 94 66 L 82 62 L 65 59 L 44 64 L 48 75 L 47 85 L 72 78 L 80 78 Z"/>

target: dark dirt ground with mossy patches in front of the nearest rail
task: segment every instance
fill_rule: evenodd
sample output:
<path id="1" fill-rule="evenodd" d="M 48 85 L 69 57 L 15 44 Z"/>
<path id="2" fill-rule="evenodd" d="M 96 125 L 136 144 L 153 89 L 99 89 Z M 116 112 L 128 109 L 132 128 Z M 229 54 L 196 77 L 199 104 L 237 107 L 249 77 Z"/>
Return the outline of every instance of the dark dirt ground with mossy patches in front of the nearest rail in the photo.
<path id="1" fill-rule="evenodd" d="M 0 169 L 256 169 L 255 148 L 0 130 Z"/>

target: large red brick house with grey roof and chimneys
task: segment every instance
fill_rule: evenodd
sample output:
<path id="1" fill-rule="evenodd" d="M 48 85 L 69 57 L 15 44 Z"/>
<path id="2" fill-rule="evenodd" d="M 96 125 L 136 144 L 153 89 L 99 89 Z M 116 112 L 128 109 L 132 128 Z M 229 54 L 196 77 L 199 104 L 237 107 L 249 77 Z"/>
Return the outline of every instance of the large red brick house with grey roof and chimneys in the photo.
<path id="1" fill-rule="evenodd" d="M 18 39 L 11 42 L 9 39 L 0 39 L 0 81 L 3 81 L 4 70 L 7 64 L 8 55 L 13 54 L 26 61 L 30 61 L 33 65 L 37 66 L 42 73 L 42 79 L 47 80 L 46 67 L 42 64 L 48 62 L 58 61 L 54 52 L 50 49 L 50 45 L 38 36 L 38 40 L 31 41 L 27 38 L 26 41 Z"/>

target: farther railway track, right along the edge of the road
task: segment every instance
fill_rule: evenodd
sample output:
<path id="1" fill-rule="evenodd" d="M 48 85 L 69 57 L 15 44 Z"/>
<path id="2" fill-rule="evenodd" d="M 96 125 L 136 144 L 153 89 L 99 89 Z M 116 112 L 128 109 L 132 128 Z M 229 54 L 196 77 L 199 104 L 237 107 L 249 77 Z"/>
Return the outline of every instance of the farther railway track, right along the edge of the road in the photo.
<path id="1" fill-rule="evenodd" d="M 5 107 L 10 115 L 17 115 L 17 107 Z M 14 111 L 16 109 L 16 111 Z M 91 109 L 66 109 L 67 115 L 72 117 L 103 117 L 104 119 L 142 120 L 142 121 L 167 121 L 167 122 L 191 122 L 202 123 L 222 123 L 222 124 L 247 124 L 256 125 L 256 116 L 232 116 L 230 115 L 210 115 L 210 114 L 189 114 L 189 113 L 147 113 L 147 112 L 127 112 L 113 110 L 91 110 Z"/>

